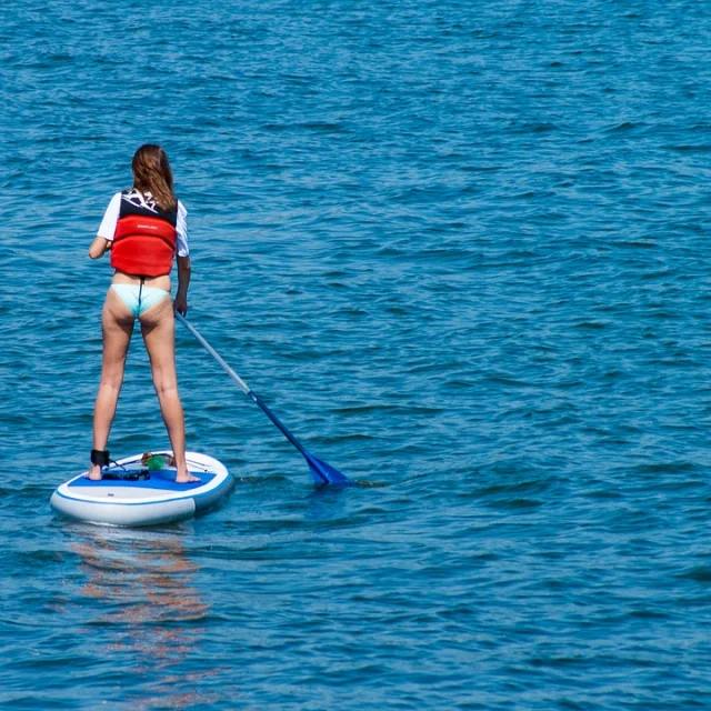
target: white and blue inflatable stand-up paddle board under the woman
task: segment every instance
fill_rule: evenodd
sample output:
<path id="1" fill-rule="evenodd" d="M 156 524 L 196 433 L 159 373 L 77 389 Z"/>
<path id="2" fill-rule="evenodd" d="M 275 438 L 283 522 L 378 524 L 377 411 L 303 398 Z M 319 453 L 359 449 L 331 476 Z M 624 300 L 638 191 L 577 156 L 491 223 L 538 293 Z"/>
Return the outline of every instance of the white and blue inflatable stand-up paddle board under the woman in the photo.
<path id="1" fill-rule="evenodd" d="M 104 525 L 156 525 L 182 521 L 217 508 L 234 480 L 224 464 L 207 454 L 187 452 L 188 469 L 200 481 L 176 483 L 172 452 L 127 457 L 104 468 L 100 481 L 79 474 L 60 484 L 50 503 L 58 513 Z M 157 468 L 158 465 L 158 468 Z"/>

